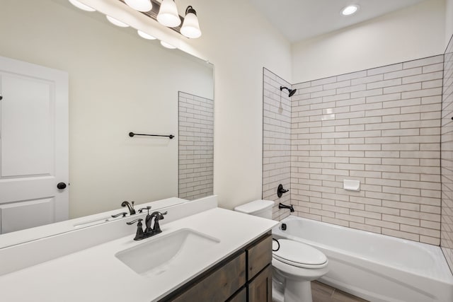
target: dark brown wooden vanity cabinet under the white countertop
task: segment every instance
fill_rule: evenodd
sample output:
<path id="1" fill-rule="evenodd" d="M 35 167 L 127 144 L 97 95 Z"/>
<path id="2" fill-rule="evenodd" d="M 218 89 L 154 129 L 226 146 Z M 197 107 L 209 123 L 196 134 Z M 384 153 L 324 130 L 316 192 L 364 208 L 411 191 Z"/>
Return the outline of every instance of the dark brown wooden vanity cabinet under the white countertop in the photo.
<path id="1" fill-rule="evenodd" d="M 160 301 L 272 302 L 271 262 L 267 233 Z"/>

